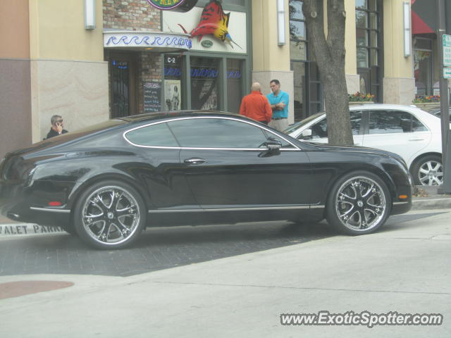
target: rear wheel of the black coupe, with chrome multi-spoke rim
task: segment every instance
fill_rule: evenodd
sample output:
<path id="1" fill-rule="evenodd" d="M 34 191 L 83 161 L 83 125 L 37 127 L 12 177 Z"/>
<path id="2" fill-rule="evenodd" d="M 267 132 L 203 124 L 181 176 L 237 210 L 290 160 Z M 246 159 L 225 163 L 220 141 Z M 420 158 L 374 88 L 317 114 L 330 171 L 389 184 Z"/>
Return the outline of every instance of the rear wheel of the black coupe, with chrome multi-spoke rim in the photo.
<path id="1" fill-rule="evenodd" d="M 135 242 L 146 222 L 137 190 L 125 182 L 98 182 L 82 192 L 73 224 L 80 238 L 96 249 L 121 249 Z"/>

